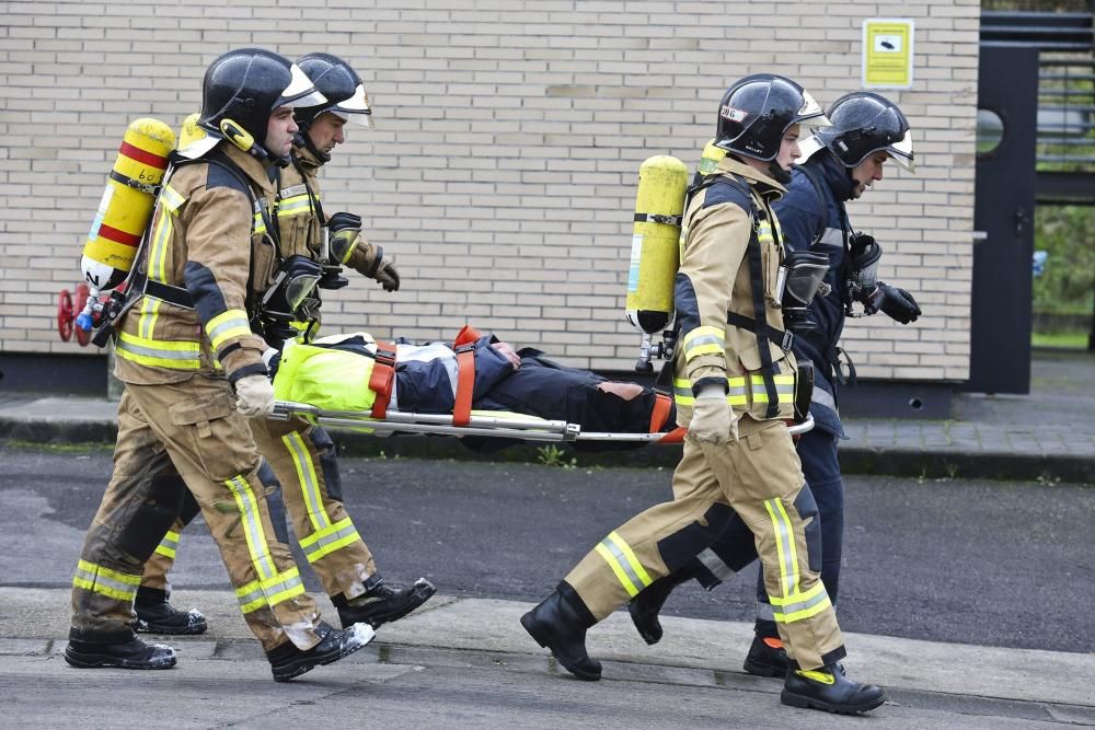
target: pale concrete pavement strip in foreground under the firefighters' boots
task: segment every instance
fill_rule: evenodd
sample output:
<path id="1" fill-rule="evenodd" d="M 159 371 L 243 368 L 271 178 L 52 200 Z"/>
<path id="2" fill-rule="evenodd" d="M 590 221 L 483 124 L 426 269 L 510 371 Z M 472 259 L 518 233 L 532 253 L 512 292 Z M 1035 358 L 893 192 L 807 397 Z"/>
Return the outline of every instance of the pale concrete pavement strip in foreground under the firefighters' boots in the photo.
<path id="1" fill-rule="evenodd" d="M 0 676 L 33 672 L 45 675 L 58 671 L 57 654 L 64 650 L 69 618 L 68 598 L 68 589 L 0 588 L 0 605 L 3 606 Z M 253 686 L 255 681 L 269 679 L 258 644 L 240 619 L 230 591 L 178 590 L 173 601 L 180 606 L 200 606 L 210 623 L 209 633 L 199 637 L 160 639 L 173 644 L 181 652 L 178 668 L 170 679 L 173 685 L 184 677 L 204 676 L 215 671 L 209 662 L 247 662 L 240 663 L 237 669 L 222 670 L 228 683 L 245 682 L 246 686 Z M 460 663 L 469 669 L 486 667 L 509 674 L 519 672 L 525 677 L 516 680 L 519 683 L 565 681 L 564 687 L 585 691 L 588 684 L 572 684 L 566 672 L 560 670 L 549 653 L 521 628 L 518 619 L 530 607 L 514 601 L 439 595 L 410 617 L 382 627 L 377 640 L 347 662 L 382 663 L 390 667 L 389 671 L 396 671 L 391 665 L 401 664 L 415 664 L 419 669 L 425 665 L 429 670 L 435 664 L 452 661 L 451 654 L 456 651 Z M 624 612 L 613 614 L 590 631 L 590 654 L 604 662 L 604 679 L 596 685 L 598 691 L 612 694 L 615 692 L 613 683 L 639 682 L 681 690 L 724 687 L 765 693 L 772 696 L 758 702 L 757 725 L 749 721 L 748 705 L 741 708 L 746 714 L 735 720 L 741 727 L 771 727 L 769 723 L 776 720 L 773 717 L 777 706 L 774 695 L 780 683 L 752 677 L 741 671 L 751 625 L 671 616 L 664 617 L 662 622 L 666 638 L 653 648 L 638 638 Z M 910 722 L 909 715 L 900 721 L 888 716 L 892 708 L 901 708 L 913 716 L 923 714 L 922 721 L 931 717 L 927 725 L 919 727 L 941 721 L 945 727 L 956 728 L 1005 727 L 1001 723 L 1003 720 L 1008 721 L 1006 727 L 1013 727 L 1011 721 L 1018 721 L 1023 727 L 1026 722 L 1095 723 L 1095 692 L 1092 691 L 1095 662 L 1090 654 L 1017 652 L 858 634 L 845 634 L 845 640 L 849 672 L 887 688 L 889 705 L 873 715 L 881 727 L 918 727 Z M 71 685 L 77 672 L 66 670 L 61 665 L 64 676 L 70 680 L 64 685 Z M 114 670 L 105 674 L 127 681 L 134 676 L 134 673 Z M 105 674 L 103 671 L 80 673 L 80 679 L 100 681 L 106 679 Z M 147 674 L 158 673 L 137 674 L 145 681 Z M 320 681 L 331 674 L 331 670 L 316 672 L 314 679 Z M 551 676 L 558 674 L 563 676 Z M 64 685 L 59 692 L 65 690 Z M 230 692 L 230 687 L 222 686 L 221 692 Z M 809 714 L 806 717 L 825 722 L 823 718 L 831 716 Z M 9 719 L 18 722 L 19 718 Z M 791 721 L 792 718 L 785 719 Z M 655 720 L 649 727 L 662 727 L 662 722 Z"/>

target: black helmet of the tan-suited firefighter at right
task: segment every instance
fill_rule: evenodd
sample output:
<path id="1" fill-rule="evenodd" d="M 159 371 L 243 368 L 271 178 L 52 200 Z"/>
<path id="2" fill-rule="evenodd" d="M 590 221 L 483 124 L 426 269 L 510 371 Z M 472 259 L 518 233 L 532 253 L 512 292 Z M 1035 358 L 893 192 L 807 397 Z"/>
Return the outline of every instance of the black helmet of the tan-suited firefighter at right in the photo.
<path id="1" fill-rule="evenodd" d="M 814 97 L 791 79 L 754 73 L 723 94 L 715 147 L 766 162 L 780 153 L 783 135 L 796 124 L 825 126 L 829 120 Z"/>

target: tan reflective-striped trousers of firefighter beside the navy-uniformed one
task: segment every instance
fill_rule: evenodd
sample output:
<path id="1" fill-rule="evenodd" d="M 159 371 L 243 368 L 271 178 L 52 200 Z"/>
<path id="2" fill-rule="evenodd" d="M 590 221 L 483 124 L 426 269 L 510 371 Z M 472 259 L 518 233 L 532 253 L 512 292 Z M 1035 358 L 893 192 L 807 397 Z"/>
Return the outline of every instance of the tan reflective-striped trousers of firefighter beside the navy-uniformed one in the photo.
<path id="1" fill-rule="evenodd" d="M 739 433 L 726 447 L 688 436 L 673 474 L 673 501 L 652 507 L 611 532 L 565 580 L 601 621 L 669 575 L 662 555 L 667 546 L 692 525 L 706 526 L 713 505 L 727 505 L 754 535 L 765 589 L 791 657 L 805 670 L 839 661 L 843 640 L 820 580 L 820 551 L 807 546 L 807 534 L 818 530 L 816 507 L 787 427 L 747 415 L 739 421 Z M 704 547 L 691 543 L 695 553 Z M 680 544 L 672 549 L 679 551 Z"/>

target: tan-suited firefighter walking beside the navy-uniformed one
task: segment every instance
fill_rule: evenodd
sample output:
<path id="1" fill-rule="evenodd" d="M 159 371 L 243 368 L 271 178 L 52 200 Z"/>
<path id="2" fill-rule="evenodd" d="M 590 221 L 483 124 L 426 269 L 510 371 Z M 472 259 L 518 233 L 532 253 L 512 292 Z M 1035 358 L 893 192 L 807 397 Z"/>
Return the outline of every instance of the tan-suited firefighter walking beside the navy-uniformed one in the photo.
<path id="1" fill-rule="evenodd" d="M 580 679 L 601 674 L 586 630 L 687 565 L 736 512 L 753 533 L 793 660 L 782 702 L 855 714 L 885 700 L 838 664 L 845 650 L 819 577 L 817 507 L 783 420 L 793 415 L 797 368 L 782 328 L 785 251 L 772 205 L 789 181 L 802 127 L 825 124 L 802 86 L 771 73 L 746 77 L 723 96 L 715 143 L 727 155 L 690 189 L 675 289 L 673 389 L 688 434 L 673 501 L 609 533 L 521 617 Z"/>

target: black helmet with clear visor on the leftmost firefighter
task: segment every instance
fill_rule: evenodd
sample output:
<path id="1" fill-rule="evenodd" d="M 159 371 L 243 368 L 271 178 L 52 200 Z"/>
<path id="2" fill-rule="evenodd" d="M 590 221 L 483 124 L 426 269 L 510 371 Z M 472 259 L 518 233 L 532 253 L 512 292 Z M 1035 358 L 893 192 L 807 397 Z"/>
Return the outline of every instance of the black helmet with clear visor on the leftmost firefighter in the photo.
<path id="1" fill-rule="evenodd" d="M 274 109 L 321 103 L 323 95 L 288 58 L 263 48 L 239 48 L 206 70 L 198 125 L 215 139 L 230 136 L 237 142 L 242 137 L 237 129 L 242 129 L 253 138 L 249 151 L 264 158 L 269 157 L 264 143 Z"/>

